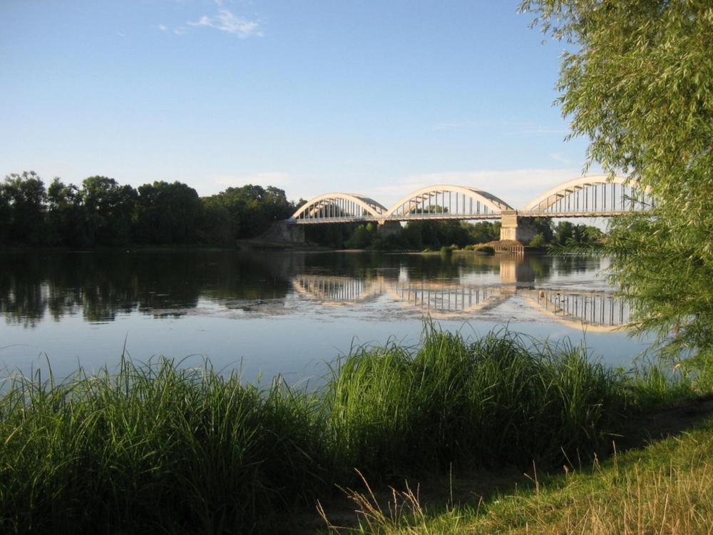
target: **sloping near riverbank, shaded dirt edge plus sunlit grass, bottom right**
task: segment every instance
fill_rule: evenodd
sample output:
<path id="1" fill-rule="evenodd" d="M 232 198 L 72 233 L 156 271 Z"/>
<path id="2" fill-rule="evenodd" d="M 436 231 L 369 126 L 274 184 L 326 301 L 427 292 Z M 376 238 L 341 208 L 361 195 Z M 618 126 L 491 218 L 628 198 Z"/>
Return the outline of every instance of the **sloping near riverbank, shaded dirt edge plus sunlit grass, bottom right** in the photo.
<path id="1" fill-rule="evenodd" d="M 404 484 L 362 481 L 326 509 L 327 533 L 637 534 L 710 533 L 713 401 L 632 417 L 638 437 L 608 458 L 552 472 L 473 472 Z M 354 513 L 354 511 L 359 511 Z M 337 527 L 339 526 L 339 527 Z M 360 526 L 356 529 L 355 526 Z"/>

